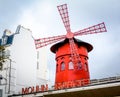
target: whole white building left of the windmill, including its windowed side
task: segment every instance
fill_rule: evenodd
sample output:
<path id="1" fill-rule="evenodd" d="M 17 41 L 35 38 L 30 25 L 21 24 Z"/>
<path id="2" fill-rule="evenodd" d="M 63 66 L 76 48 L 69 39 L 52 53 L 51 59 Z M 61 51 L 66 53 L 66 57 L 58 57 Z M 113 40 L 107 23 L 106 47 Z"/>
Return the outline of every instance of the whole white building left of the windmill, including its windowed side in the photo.
<path id="1" fill-rule="evenodd" d="M 22 88 L 47 84 L 47 58 L 43 55 L 46 52 L 36 50 L 32 32 L 18 26 L 14 34 L 4 36 L 12 36 L 12 42 L 5 47 L 10 56 L 0 70 L 0 95 L 19 94 Z M 1 46 L 2 42 L 3 39 Z"/>

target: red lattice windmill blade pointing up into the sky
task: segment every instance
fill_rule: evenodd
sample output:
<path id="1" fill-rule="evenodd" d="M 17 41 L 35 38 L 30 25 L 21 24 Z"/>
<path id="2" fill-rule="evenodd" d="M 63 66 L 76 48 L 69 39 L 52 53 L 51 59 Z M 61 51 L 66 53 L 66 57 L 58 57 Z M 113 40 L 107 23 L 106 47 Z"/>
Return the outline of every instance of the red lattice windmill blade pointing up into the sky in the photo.
<path id="1" fill-rule="evenodd" d="M 57 6 L 67 33 L 71 32 L 67 4 Z"/>

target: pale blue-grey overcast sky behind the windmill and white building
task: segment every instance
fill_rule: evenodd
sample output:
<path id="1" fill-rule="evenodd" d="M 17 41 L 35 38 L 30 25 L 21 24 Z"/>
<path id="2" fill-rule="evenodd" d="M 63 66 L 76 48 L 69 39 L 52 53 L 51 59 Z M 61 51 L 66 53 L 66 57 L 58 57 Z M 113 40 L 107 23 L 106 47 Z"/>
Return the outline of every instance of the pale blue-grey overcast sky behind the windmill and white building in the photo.
<path id="1" fill-rule="evenodd" d="M 76 37 L 93 45 L 91 79 L 120 75 L 120 0 L 0 0 L 0 34 L 20 24 L 34 38 L 66 34 L 57 5 L 68 5 L 72 32 L 105 22 L 107 32 Z M 54 79 L 55 55 L 47 46 L 49 77 Z M 41 60 L 43 61 L 43 60 Z"/>

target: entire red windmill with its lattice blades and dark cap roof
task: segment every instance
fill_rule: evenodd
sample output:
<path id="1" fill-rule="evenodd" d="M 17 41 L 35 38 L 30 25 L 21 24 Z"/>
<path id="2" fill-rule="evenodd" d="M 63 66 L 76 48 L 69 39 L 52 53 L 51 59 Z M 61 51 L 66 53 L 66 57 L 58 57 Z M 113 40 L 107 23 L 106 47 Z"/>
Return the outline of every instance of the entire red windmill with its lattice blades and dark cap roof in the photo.
<path id="1" fill-rule="evenodd" d="M 77 86 L 77 80 L 87 79 L 84 85 L 89 83 L 88 52 L 93 49 L 92 45 L 74 38 L 78 35 L 107 32 L 104 22 L 71 32 L 67 4 L 57 6 L 63 24 L 67 31 L 66 35 L 53 36 L 48 38 L 35 39 L 36 48 L 47 46 L 51 43 L 63 40 L 51 47 L 51 51 L 56 53 L 56 78 L 55 88 L 69 88 Z M 70 84 L 70 85 L 69 85 Z M 80 86 L 82 84 L 79 84 Z"/>

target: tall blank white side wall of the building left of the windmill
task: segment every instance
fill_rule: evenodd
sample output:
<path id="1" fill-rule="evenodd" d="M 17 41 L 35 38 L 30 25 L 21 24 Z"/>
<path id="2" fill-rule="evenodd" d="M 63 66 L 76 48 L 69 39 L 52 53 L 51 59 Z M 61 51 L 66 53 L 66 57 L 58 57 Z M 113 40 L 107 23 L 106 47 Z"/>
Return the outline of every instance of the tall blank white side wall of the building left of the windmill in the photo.
<path id="1" fill-rule="evenodd" d="M 10 59 L 15 64 L 16 92 L 22 87 L 36 85 L 36 48 L 32 32 L 21 27 L 14 36 L 10 46 Z"/>

